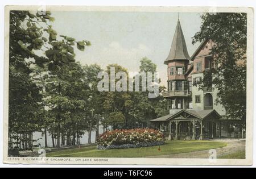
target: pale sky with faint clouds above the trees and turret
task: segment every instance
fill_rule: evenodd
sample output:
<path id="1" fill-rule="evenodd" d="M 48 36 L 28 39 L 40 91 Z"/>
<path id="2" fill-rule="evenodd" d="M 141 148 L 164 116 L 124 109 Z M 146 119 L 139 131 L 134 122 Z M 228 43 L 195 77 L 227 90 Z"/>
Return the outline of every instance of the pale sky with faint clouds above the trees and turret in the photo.
<path id="1" fill-rule="evenodd" d="M 147 57 L 157 65 L 161 85 L 167 84 L 166 60 L 174 36 L 177 13 L 168 12 L 104 12 L 52 11 L 53 29 L 59 35 L 89 40 L 85 51 L 76 50 L 81 64 L 119 64 L 129 72 L 138 72 L 140 60 Z M 179 19 L 191 56 L 199 46 L 192 45 L 192 37 L 200 30 L 199 13 L 180 13 Z"/>

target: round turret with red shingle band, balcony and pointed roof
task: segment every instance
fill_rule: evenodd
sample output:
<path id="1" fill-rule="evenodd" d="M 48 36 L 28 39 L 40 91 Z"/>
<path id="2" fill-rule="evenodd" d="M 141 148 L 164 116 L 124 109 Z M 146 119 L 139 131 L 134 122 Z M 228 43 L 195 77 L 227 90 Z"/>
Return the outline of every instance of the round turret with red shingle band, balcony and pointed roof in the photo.
<path id="1" fill-rule="evenodd" d="M 190 96 L 185 76 L 189 58 L 180 20 L 178 19 L 170 53 L 167 59 L 164 60 L 164 64 L 168 65 L 168 90 L 164 93 L 164 97 L 170 99 L 171 109 L 186 108 L 186 98 Z"/>

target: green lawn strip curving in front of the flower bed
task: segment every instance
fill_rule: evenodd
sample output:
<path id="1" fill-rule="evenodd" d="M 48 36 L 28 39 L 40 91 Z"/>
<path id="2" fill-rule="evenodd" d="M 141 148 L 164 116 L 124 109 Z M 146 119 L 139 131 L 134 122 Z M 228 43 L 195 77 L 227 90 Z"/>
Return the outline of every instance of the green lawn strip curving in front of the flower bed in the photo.
<path id="1" fill-rule="evenodd" d="M 158 151 L 158 146 L 108 150 L 96 149 L 96 146 L 90 146 L 47 153 L 47 157 L 146 157 L 201 151 L 224 146 L 226 146 L 226 143 L 216 141 L 172 140 L 166 141 L 164 145 L 160 145 L 160 151 Z"/>

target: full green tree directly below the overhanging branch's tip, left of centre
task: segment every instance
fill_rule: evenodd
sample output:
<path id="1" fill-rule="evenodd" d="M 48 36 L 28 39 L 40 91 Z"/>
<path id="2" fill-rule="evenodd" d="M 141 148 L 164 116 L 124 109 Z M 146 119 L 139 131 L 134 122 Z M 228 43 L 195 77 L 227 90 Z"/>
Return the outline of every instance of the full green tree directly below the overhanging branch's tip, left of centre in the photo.
<path id="1" fill-rule="evenodd" d="M 57 147 L 60 147 L 60 134 L 64 133 L 61 133 L 61 128 L 67 123 L 73 129 L 72 144 L 75 144 L 76 127 L 81 122 L 81 112 L 86 104 L 82 98 L 82 88 L 86 89 L 82 86 L 82 73 L 81 65 L 77 63 L 57 66 L 55 71 L 49 73 L 47 104 L 57 125 Z"/>

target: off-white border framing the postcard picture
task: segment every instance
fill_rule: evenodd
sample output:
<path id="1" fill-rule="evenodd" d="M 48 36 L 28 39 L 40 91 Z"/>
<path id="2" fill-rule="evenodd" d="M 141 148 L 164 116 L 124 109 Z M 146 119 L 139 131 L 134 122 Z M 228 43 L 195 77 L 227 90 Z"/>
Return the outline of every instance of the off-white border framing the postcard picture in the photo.
<path id="1" fill-rule="evenodd" d="M 115 165 L 252 165 L 253 164 L 253 47 L 254 47 L 254 10 L 251 7 L 150 7 L 150 6 L 46 6 L 49 11 L 141 11 L 141 12 L 182 12 L 182 13 L 247 13 L 247 86 L 246 86 L 246 159 L 146 159 L 146 158 L 105 158 L 106 161 L 92 161 L 96 158 L 47 157 L 49 161 L 34 161 L 33 157 L 15 157 L 19 161 L 9 161 L 8 153 L 8 97 L 9 97 L 9 12 L 10 10 L 38 10 L 40 6 L 5 7 L 5 61 L 4 61 L 4 123 L 3 123 L 3 163 L 5 164 L 115 164 Z M 23 160 L 24 159 L 24 160 Z M 31 160 L 30 160 L 31 159 Z M 51 159 L 58 159 L 51 161 Z M 98 158 L 97 158 L 98 159 Z M 86 161 L 77 161 L 86 160 Z"/>

